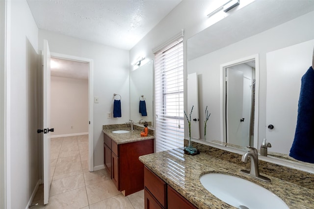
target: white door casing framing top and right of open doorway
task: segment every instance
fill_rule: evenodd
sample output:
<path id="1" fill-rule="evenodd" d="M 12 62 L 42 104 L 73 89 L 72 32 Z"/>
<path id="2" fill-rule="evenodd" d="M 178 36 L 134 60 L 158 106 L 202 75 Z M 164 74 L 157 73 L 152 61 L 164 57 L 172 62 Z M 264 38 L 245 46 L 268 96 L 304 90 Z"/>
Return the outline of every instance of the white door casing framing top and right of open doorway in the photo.
<path id="1" fill-rule="evenodd" d="M 88 117 L 89 117 L 89 126 L 88 126 L 88 170 L 90 172 L 94 171 L 94 65 L 93 60 L 77 57 L 67 54 L 60 54 L 51 52 L 51 56 L 55 58 L 68 59 L 78 62 L 86 62 L 89 63 L 88 69 Z"/>

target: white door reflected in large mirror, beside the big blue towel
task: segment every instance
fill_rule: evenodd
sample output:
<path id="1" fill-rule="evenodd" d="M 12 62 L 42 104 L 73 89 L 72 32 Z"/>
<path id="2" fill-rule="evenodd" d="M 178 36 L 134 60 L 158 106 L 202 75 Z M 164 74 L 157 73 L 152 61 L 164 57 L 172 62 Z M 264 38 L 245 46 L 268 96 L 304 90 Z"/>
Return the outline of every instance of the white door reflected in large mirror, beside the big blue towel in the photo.
<path id="1" fill-rule="evenodd" d="M 301 78 L 312 64 L 314 40 L 266 53 L 266 139 L 269 151 L 289 154 L 294 139 Z M 269 127 L 269 125 L 273 125 Z"/>

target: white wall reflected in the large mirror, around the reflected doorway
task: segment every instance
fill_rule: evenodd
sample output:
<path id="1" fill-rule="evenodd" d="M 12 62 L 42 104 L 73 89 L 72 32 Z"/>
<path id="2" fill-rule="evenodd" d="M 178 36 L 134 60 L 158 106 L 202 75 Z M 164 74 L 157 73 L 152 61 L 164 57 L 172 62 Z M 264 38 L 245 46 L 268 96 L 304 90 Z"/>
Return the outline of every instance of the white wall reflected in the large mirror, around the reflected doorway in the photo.
<path id="1" fill-rule="evenodd" d="M 266 53 L 313 39 L 314 12 L 266 30 L 188 62 L 188 72 L 199 74 L 199 97 L 202 106 L 209 106 L 209 140 L 220 139 L 220 65 L 233 60 L 259 54 L 259 139 L 265 138 L 266 130 Z M 310 66 L 310 64 L 309 64 Z M 203 116 L 200 116 L 203 120 Z M 215 131 L 214 131 L 215 130 Z M 259 141 L 259 146 L 262 141 Z"/>

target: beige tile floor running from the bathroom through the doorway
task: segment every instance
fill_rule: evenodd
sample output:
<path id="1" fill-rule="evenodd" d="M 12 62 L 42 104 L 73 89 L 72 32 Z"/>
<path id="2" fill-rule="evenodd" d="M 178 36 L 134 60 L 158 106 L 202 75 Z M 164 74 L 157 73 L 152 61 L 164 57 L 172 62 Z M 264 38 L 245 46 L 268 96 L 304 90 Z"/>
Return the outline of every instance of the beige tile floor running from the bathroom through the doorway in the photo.
<path id="1" fill-rule="evenodd" d="M 144 190 L 125 197 L 105 169 L 88 171 L 88 135 L 51 139 L 49 204 L 40 185 L 31 209 L 143 209 Z"/>

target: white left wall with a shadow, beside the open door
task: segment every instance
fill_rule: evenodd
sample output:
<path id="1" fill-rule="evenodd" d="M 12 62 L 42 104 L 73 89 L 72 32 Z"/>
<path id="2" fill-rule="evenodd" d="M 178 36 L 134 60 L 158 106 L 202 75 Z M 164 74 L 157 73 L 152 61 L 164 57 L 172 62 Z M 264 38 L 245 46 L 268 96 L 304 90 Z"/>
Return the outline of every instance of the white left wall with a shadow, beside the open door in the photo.
<path id="1" fill-rule="evenodd" d="M 39 180 L 38 28 L 26 0 L 11 1 L 10 12 L 10 202 L 12 209 L 25 209 Z"/>

